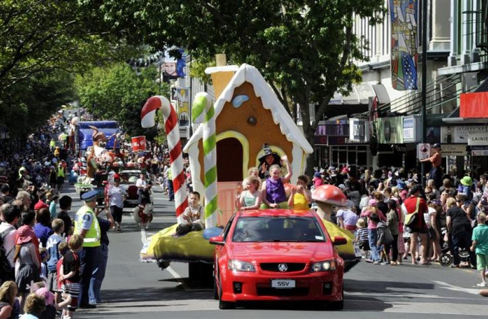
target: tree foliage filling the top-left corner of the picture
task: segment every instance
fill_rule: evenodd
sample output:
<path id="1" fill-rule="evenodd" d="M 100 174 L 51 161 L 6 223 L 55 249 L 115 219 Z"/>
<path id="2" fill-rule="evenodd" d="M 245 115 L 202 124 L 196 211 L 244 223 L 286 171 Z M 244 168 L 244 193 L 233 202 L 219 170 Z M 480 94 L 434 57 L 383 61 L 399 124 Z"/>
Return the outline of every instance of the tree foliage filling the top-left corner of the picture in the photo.
<path id="1" fill-rule="evenodd" d="M 108 31 L 98 12 L 74 0 L 1 1 L 0 125 L 25 135 L 71 101 L 68 74 L 134 51 Z"/>

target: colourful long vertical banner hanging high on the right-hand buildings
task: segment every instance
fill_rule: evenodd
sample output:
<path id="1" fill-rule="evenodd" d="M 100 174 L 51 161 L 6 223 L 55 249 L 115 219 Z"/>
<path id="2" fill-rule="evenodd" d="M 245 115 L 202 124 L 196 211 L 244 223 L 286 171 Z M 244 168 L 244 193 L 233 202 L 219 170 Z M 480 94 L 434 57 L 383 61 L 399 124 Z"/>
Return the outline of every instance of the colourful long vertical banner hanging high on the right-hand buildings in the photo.
<path id="1" fill-rule="evenodd" d="M 418 0 L 389 0 L 391 21 L 391 85 L 417 89 Z"/>

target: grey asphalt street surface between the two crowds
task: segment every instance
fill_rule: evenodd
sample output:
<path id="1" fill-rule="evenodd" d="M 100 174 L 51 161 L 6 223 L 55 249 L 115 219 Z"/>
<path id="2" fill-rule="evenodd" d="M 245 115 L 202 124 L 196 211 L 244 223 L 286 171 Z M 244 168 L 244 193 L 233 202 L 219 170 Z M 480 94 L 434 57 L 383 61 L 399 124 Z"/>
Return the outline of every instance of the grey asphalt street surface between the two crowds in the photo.
<path id="1" fill-rule="evenodd" d="M 73 214 L 81 205 L 72 187 Z M 69 193 L 72 192 L 72 193 Z M 459 318 L 486 317 L 488 299 L 478 294 L 474 270 L 433 266 L 381 266 L 361 262 L 345 275 L 343 311 L 317 311 L 305 303 L 248 304 L 246 308 L 219 310 L 213 290 L 192 288 L 187 265 L 173 262 L 162 271 L 139 259 L 142 240 L 176 221 L 174 202 L 155 194 L 155 218 L 141 232 L 124 213 L 122 232 L 109 233 L 103 303 L 97 309 L 79 309 L 78 318 Z M 324 313 L 326 312 L 326 313 Z"/>

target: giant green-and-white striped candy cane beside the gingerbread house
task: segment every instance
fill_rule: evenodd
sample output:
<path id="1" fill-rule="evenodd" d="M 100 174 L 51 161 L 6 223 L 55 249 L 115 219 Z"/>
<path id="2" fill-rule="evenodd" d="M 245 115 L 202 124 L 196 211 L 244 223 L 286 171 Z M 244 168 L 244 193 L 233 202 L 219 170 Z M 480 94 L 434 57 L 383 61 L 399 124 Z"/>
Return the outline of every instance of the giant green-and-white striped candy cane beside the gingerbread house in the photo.
<path id="1" fill-rule="evenodd" d="M 217 226 L 217 137 L 215 134 L 215 109 L 208 93 L 200 92 L 193 102 L 192 117 L 195 123 L 203 122 L 203 168 L 205 171 L 205 228 Z"/>

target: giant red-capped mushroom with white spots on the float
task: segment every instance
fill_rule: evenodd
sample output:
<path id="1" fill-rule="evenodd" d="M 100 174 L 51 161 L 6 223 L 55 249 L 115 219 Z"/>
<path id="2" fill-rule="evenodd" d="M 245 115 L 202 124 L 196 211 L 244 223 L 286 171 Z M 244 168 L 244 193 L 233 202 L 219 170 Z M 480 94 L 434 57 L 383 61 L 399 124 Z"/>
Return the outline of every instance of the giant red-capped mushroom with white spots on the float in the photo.
<path id="1" fill-rule="evenodd" d="M 334 185 L 320 185 L 312 193 L 312 199 L 317 203 L 317 214 L 326 220 L 331 220 L 332 208 L 334 206 L 344 206 L 346 195 L 342 190 Z"/>

